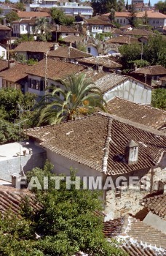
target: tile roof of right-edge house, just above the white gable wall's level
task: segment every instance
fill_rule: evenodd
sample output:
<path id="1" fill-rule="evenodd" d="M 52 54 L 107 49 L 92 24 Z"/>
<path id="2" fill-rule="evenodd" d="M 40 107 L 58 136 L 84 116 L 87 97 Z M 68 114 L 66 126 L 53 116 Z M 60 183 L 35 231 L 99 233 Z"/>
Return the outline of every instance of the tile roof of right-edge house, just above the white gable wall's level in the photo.
<path id="1" fill-rule="evenodd" d="M 143 75 L 166 75 L 166 69 L 161 65 L 156 65 L 156 66 L 141 67 L 139 69 L 136 69 L 132 73 L 143 74 Z"/>

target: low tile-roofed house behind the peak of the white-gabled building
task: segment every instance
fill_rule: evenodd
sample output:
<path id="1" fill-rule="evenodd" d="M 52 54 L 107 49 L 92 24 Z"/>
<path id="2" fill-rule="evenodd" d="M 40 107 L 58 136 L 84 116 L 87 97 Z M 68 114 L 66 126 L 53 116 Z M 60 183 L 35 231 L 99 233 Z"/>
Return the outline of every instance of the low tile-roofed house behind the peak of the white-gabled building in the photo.
<path id="1" fill-rule="evenodd" d="M 95 70 L 103 70 L 106 72 L 116 72 L 122 68 L 122 65 L 112 61 L 108 56 L 98 56 L 91 58 L 78 59 L 79 64 L 92 67 Z"/>

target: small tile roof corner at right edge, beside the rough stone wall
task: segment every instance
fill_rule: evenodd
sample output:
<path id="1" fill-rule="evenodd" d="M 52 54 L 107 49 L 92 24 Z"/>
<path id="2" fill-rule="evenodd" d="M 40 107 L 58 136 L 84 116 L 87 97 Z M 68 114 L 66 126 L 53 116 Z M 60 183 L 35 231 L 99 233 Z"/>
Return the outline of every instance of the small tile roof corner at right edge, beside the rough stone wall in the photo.
<path id="1" fill-rule="evenodd" d="M 145 197 L 143 198 L 141 205 L 166 220 L 166 195 Z"/>

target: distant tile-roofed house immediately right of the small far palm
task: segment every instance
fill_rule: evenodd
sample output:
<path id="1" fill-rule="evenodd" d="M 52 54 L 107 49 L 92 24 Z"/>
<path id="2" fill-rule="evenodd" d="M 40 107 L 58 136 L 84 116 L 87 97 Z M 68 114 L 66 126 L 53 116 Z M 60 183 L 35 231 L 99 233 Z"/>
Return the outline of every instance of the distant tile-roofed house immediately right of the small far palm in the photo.
<path id="1" fill-rule="evenodd" d="M 72 26 L 62 26 L 55 25 L 55 29 L 52 29 L 52 39 L 58 42 L 59 38 L 65 38 L 67 36 L 79 36 L 79 31 L 77 31 Z"/>

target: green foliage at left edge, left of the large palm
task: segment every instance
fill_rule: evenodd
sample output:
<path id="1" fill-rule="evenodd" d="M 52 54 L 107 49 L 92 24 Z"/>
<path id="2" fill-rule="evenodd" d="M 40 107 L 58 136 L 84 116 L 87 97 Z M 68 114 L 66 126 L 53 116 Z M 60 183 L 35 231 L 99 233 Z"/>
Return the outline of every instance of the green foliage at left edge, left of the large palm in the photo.
<path id="1" fill-rule="evenodd" d="M 0 143 L 19 140 L 19 122 L 21 126 L 33 124 L 33 113 L 30 111 L 36 102 L 36 95 L 27 92 L 25 95 L 12 88 L 0 90 Z M 18 105 L 25 110 L 20 111 Z M 26 111 L 28 110 L 28 111 Z"/>

